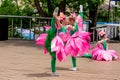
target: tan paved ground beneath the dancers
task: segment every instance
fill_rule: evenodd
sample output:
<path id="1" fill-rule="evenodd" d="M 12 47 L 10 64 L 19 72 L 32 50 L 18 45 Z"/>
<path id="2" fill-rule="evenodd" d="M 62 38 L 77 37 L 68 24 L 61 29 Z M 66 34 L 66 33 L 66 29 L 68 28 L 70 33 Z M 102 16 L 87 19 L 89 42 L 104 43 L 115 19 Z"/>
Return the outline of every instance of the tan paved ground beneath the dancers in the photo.
<path id="1" fill-rule="evenodd" d="M 120 53 L 120 43 L 110 43 Z M 59 77 L 51 77 L 50 56 L 32 41 L 0 41 L 0 80 L 120 80 L 120 60 L 77 58 L 78 71 L 69 71 L 71 58 L 57 62 Z"/>

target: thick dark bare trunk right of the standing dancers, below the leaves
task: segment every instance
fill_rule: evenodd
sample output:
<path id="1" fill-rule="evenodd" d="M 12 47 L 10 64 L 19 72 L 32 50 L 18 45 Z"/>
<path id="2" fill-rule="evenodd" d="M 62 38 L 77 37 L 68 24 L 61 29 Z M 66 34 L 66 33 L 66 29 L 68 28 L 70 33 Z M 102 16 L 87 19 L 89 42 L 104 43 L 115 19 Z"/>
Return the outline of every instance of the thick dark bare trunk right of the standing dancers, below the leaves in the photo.
<path id="1" fill-rule="evenodd" d="M 91 29 L 92 27 L 96 27 L 97 24 L 97 12 L 98 12 L 98 7 L 93 7 L 93 9 L 89 9 L 89 19 L 92 21 L 92 23 L 89 23 L 89 32 L 93 33 L 93 29 Z M 93 34 L 91 34 L 91 40 L 93 41 L 93 37 L 94 40 L 96 40 L 96 30 L 94 32 L 94 36 Z"/>

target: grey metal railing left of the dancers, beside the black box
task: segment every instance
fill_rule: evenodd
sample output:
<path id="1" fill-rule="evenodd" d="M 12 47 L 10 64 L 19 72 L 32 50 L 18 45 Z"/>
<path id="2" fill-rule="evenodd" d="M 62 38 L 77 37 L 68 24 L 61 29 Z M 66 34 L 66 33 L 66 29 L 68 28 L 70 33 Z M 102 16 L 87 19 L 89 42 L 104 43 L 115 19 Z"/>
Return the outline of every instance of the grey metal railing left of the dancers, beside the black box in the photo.
<path id="1" fill-rule="evenodd" d="M 24 29 L 29 31 L 29 40 L 35 40 L 37 35 L 44 32 L 40 31 L 41 28 L 44 30 L 43 26 L 49 25 L 51 22 L 51 18 L 48 17 L 0 15 L 0 18 L 8 18 L 9 38 L 16 38 L 15 30 L 20 29 L 19 38 L 25 39 L 22 34 Z M 36 30 L 36 28 L 38 29 Z M 31 34 L 32 32 L 34 35 Z M 31 36 L 34 38 L 31 39 Z"/>

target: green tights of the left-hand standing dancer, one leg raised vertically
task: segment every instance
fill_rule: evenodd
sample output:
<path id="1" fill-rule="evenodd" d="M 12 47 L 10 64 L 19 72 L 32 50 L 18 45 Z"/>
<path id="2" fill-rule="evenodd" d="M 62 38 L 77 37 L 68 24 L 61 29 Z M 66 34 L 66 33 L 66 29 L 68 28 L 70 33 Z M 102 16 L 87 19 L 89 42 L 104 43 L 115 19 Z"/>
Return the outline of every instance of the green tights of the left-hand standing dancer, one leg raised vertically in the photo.
<path id="1" fill-rule="evenodd" d="M 52 60 L 51 60 L 51 69 L 52 72 L 56 71 L 56 54 L 55 52 L 51 52 L 51 41 L 56 36 L 56 28 L 55 28 L 55 18 L 52 18 L 51 21 L 51 28 L 47 32 L 47 38 L 45 41 L 45 48 L 50 53 Z"/>

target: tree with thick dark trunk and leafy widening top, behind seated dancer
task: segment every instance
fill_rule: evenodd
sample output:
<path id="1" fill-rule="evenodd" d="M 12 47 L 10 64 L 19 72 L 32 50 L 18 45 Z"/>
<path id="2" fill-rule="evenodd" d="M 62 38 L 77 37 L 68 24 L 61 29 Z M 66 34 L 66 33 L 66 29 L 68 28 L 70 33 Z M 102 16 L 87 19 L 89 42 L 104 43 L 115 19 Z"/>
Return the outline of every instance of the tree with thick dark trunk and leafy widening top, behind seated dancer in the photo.
<path id="1" fill-rule="evenodd" d="M 97 15 L 98 15 L 98 7 L 104 3 L 105 0 L 89 0 L 88 2 L 88 8 L 89 8 L 89 19 L 92 21 L 92 23 L 89 24 L 89 32 L 93 32 L 92 27 L 96 27 L 97 23 Z M 96 31 L 95 33 L 96 34 Z M 91 39 L 93 39 L 93 34 L 91 35 Z M 95 35 L 95 39 L 96 39 Z"/>

